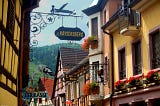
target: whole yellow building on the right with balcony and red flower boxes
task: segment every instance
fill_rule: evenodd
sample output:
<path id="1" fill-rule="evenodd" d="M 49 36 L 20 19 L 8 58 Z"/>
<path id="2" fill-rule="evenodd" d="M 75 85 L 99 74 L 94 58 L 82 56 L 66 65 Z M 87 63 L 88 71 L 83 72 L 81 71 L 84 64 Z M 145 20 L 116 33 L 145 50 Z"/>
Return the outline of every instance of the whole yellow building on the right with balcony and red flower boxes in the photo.
<path id="1" fill-rule="evenodd" d="M 122 0 L 121 5 L 121 9 L 102 27 L 113 37 L 112 105 L 158 106 L 160 1 Z M 148 77 L 151 71 L 157 75 L 152 84 Z M 131 87 L 131 81 L 135 79 L 136 83 Z M 141 86 L 136 85 L 138 81 Z M 123 89 L 117 87 L 120 84 L 124 85 Z"/>

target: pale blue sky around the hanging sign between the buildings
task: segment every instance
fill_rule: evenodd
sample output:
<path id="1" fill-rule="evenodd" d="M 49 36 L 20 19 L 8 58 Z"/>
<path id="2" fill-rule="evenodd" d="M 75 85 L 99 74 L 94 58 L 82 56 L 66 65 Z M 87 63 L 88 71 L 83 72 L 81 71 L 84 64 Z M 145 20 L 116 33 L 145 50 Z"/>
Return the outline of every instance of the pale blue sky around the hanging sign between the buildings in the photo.
<path id="1" fill-rule="evenodd" d="M 60 8 L 63 4 L 68 3 L 64 9 L 65 10 L 75 10 L 77 15 L 83 16 L 81 18 L 77 18 L 77 27 L 80 28 L 82 31 L 85 32 L 85 36 L 88 36 L 88 17 L 82 12 L 82 10 L 94 5 L 98 0 L 41 0 L 39 3 L 39 7 L 34 9 L 33 12 L 43 12 L 43 13 L 50 13 L 52 9 L 52 5 L 55 6 L 56 9 Z M 57 17 L 55 18 L 55 22 L 52 24 L 47 25 L 41 32 L 32 37 L 33 34 L 31 33 L 31 41 L 37 40 L 37 46 L 46 46 L 46 45 L 53 45 L 62 42 L 68 42 L 59 40 L 55 35 L 54 32 L 56 29 L 62 26 L 62 18 Z M 63 26 L 64 27 L 76 27 L 76 19 L 73 17 L 64 17 L 63 18 Z M 76 41 L 76 43 L 81 43 L 81 41 Z"/>

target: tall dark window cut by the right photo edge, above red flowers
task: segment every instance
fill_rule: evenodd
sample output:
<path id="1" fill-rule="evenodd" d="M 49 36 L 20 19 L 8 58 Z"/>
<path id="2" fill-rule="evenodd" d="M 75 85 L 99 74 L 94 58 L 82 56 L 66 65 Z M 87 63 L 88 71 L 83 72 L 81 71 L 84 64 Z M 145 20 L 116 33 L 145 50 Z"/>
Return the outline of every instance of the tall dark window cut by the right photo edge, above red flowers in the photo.
<path id="1" fill-rule="evenodd" d="M 160 67 L 160 30 L 150 34 L 151 68 Z"/>

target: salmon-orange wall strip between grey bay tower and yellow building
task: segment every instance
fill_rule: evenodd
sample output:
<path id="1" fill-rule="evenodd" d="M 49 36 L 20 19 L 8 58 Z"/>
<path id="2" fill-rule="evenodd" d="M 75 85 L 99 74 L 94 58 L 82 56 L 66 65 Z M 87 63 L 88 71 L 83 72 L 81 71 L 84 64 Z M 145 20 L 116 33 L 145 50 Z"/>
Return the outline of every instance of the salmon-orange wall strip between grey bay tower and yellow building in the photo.
<path id="1" fill-rule="evenodd" d="M 121 4 L 121 0 L 108 0 L 105 8 L 102 10 L 102 16 L 103 16 L 103 25 L 109 21 L 110 17 L 118 10 L 119 6 Z M 105 16 L 104 16 L 105 15 Z M 105 18 L 105 19 L 104 19 Z M 109 32 L 109 31 L 108 31 Z M 104 56 L 103 59 L 105 60 L 105 58 L 107 57 L 107 59 L 109 59 L 109 70 L 111 70 L 111 45 L 110 45 L 110 35 L 107 35 L 105 33 L 103 33 L 102 35 L 104 37 Z M 106 65 L 106 69 L 108 68 L 108 66 Z M 108 71 L 109 71 L 108 70 Z M 107 72 L 104 72 L 104 77 L 107 77 Z M 104 78 L 104 95 L 108 97 L 108 94 L 111 92 L 110 88 L 109 88 L 109 81 L 107 81 L 106 78 Z"/>

